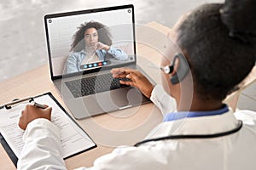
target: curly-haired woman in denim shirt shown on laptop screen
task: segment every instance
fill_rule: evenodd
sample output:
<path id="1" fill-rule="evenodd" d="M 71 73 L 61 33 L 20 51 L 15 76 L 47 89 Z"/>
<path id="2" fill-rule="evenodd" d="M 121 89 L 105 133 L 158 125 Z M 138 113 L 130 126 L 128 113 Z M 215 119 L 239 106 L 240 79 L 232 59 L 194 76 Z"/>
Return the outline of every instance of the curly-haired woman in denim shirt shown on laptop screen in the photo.
<path id="1" fill-rule="evenodd" d="M 126 60 L 128 55 L 121 49 L 113 48 L 111 33 L 107 26 L 96 21 L 81 24 L 73 35 L 71 54 L 67 58 L 66 72 L 78 72 L 81 65 L 104 61 L 106 54 L 114 59 Z"/>

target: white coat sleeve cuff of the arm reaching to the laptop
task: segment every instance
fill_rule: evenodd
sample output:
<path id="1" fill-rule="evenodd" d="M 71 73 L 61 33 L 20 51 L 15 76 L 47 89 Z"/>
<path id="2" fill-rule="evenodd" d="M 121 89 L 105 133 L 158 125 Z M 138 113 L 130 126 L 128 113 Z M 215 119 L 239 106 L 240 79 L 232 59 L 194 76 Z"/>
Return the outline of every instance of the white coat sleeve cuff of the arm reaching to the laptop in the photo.
<path id="1" fill-rule="evenodd" d="M 160 109 L 164 116 L 177 110 L 176 100 L 170 94 L 167 94 L 159 84 L 154 87 L 150 100 Z"/>

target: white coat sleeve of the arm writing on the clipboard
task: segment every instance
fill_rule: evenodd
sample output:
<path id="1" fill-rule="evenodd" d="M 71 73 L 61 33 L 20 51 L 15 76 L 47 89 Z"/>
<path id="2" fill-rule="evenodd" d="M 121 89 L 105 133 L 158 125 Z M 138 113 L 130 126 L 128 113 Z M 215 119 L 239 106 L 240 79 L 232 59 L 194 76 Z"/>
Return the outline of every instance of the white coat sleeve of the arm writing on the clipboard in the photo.
<path id="1" fill-rule="evenodd" d="M 66 169 L 59 129 L 52 122 L 43 118 L 30 122 L 23 140 L 17 169 Z"/>

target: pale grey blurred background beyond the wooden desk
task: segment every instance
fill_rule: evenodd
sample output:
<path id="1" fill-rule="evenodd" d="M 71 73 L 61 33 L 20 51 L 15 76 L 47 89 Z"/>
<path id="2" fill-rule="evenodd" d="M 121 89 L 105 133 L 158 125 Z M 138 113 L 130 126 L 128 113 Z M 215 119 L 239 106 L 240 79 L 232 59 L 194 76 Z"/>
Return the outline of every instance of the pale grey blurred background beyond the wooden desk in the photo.
<path id="1" fill-rule="evenodd" d="M 189 9 L 218 2 L 224 0 L 0 0 L 0 83 L 48 62 L 44 14 L 133 3 L 138 24 L 172 27 Z"/>

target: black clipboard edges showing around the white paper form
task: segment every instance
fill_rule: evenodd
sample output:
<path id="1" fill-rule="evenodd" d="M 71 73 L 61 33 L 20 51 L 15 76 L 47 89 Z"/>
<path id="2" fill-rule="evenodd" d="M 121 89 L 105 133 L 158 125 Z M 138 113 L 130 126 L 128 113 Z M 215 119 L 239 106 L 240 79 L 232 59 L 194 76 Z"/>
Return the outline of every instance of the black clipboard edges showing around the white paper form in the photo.
<path id="1" fill-rule="evenodd" d="M 83 133 L 83 136 L 88 138 L 88 140 L 90 140 L 90 142 L 91 142 L 90 147 L 88 147 L 86 149 L 79 150 L 79 151 L 75 151 L 73 154 L 70 154 L 68 156 L 63 157 L 64 160 L 69 158 L 69 157 L 79 155 L 80 153 L 83 153 L 84 151 L 91 150 L 91 149 L 94 149 L 94 148 L 97 147 L 96 143 L 90 138 L 90 136 L 84 131 L 84 129 L 82 127 L 80 127 L 77 122 L 75 122 L 73 120 L 72 116 L 70 116 L 67 113 L 67 111 L 62 107 L 62 105 L 57 101 L 57 99 L 55 99 L 55 97 L 50 92 L 45 93 L 45 94 L 40 94 L 40 95 L 34 96 L 34 97 L 29 97 L 29 98 L 26 98 L 26 99 L 15 99 L 12 102 L 9 102 L 9 103 L 7 103 L 5 105 L 0 106 L 0 111 L 1 110 L 9 110 L 9 111 L 11 111 L 12 110 L 12 105 L 19 105 L 20 102 L 24 102 L 24 101 L 30 102 L 30 101 L 33 101 L 34 99 L 38 99 L 38 98 L 41 98 L 41 97 L 44 97 L 44 96 L 49 96 L 49 98 L 52 101 L 55 102 L 55 104 L 60 109 L 60 111 L 62 111 L 62 113 L 65 114 L 65 117 L 67 117 L 67 119 L 72 124 L 72 126 L 75 126 L 76 130 L 79 130 L 80 135 L 81 135 L 81 133 Z M 28 102 L 26 104 L 28 104 Z M 0 112 L 0 114 L 1 114 L 1 112 Z M 0 130 L 1 130 L 1 127 L 0 127 Z M 78 135 L 79 135 L 79 133 L 78 133 Z M 6 151 L 6 153 L 9 156 L 9 158 L 11 159 L 11 161 L 13 161 L 13 163 L 15 164 L 15 167 L 17 167 L 18 156 L 15 155 L 15 151 L 12 150 L 12 148 L 9 145 L 8 141 L 6 139 L 4 139 L 2 133 L 0 133 L 0 142 L 3 145 L 3 149 Z"/>

